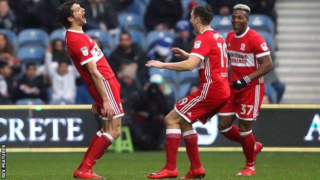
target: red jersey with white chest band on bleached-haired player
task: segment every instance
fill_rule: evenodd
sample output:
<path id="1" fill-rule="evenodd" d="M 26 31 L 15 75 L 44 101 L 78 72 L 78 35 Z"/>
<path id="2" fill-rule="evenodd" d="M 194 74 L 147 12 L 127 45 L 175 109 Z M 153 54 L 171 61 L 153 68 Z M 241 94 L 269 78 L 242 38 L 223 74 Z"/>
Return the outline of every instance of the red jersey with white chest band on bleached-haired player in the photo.
<path id="1" fill-rule="evenodd" d="M 231 81 L 254 72 L 258 67 L 258 57 L 270 54 L 265 39 L 249 27 L 242 35 L 230 31 L 227 36 L 228 55 L 232 65 Z M 248 85 L 264 83 L 263 77 L 254 79 Z"/>

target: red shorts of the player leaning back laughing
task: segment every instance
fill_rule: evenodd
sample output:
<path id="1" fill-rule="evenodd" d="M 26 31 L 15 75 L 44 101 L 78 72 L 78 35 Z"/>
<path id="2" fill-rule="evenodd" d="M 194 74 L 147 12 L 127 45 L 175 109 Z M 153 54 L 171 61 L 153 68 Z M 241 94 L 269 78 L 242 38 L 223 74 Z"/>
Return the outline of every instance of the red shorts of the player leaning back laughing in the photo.
<path id="1" fill-rule="evenodd" d="M 110 105 L 114 111 L 114 116 L 112 117 L 112 119 L 123 116 L 124 111 L 122 109 L 122 104 L 120 99 L 121 86 L 119 82 L 117 81 L 115 76 L 113 76 L 110 79 L 103 79 L 103 84 L 104 84 L 105 91 L 107 92 L 107 95 L 109 97 Z M 95 89 L 94 84 L 90 84 L 88 86 L 88 91 L 93 97 L 94 101 L 99 106 L 99 110 L 98 110 L 99 116 L 103 120 L 111 120 L 111 119 L 108 119 L 107 114 L 104 114 L 105 110 L 103 108 L 103 101 L 99 93 Z"/>

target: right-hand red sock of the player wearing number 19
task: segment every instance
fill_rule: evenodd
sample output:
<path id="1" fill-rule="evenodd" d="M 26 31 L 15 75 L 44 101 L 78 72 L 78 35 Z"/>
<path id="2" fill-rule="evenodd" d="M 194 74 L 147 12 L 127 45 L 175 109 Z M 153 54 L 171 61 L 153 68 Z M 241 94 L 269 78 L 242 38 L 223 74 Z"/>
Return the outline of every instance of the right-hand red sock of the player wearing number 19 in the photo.
<path id="1" fill-rule="evenodd" d="M 198 169 L 201 167 L 198 150 L 198 135 L 194 129 L 186 131 L 182 133 L 182 135 L 185 139 L 186 149 L 191 163 L 190 168 Z"/>

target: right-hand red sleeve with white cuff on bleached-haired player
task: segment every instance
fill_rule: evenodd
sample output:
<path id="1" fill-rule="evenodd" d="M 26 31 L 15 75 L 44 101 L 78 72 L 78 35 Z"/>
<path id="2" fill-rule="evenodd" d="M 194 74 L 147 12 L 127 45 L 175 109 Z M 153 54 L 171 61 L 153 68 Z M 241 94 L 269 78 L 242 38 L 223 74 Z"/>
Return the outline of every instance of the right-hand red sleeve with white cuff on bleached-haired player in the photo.
<path id="1" fill-rule="evenodd" d="M 257 58 L 270 54 L 270 49 L 261 35 L 252 37 L 251 43 L 251 48 Z"/>

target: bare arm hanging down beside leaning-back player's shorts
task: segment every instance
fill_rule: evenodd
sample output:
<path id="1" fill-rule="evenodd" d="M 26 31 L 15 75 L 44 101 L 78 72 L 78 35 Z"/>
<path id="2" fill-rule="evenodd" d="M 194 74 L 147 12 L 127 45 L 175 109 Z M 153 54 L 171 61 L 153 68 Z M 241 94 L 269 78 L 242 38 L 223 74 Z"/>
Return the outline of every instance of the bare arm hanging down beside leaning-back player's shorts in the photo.
<path id="1" fill-rule="evenodd" d="M 114 111 L 110 105 L 107 92 L 105 91 L 101 74 L 97 70 L 96 64 L 94 61 L 87 63 L 85 66 L 91 75 L 95 89 L 98 91 L 100 97 L 103 100 L 103 108 L 105 110 L 105 113 L 107 114 L 107 117 L 111 119 L 114 116 Z"/>

